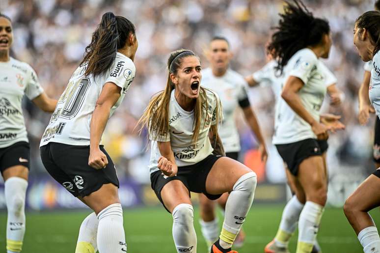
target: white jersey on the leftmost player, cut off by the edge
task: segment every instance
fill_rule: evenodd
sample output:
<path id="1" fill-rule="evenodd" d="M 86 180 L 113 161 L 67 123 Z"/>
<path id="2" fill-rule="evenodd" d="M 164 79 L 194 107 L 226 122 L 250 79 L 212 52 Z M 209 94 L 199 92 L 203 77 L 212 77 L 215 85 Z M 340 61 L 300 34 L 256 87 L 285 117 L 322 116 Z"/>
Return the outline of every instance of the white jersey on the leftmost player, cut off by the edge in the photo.
<path id="1" fill-rule="evenodd" d="M 24 94 L 32 100 L 44 90 L 34 70 L 12 57 L 0 62 L 0 85 L 0 148 L 3 148 L 28 141 L 21 101 Z"/>

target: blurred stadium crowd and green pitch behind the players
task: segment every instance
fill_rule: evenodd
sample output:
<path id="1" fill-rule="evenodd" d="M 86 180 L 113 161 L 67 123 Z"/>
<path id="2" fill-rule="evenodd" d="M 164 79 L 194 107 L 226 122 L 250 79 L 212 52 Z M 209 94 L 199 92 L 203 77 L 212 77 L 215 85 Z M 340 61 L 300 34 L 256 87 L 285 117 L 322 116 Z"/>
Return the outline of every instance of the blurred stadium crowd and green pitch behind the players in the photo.
<path id="1" fill-rule="evenodd" d="M 325 112 L 341 114 L 346 130 L 329 139 L 330 208 L 322 221 L 320 241 L 326 253 L 360 252 L 359 243 L 340 207 L 374 169 L 374 116 L 367 126 L 360 126 L 356 118 L 363 62 L 352 41 L 355 18 L 373 9 L 373 0 L 304 2 L 316 16 L 330 23 L 334 42 L 326 64 L 337 76 L 337 85 L 346 95 L 340 107 L 329 107 L 327 98 L 323 108 Z M 229 40 L 234 54 L 231 68 L 244 76 L 251 74 L 266 62 L 265 44 L 271 34 L 270 28 L 278 21 L 277 13 L 282 5 L 280 0 L 0 0 L 0 11 L 13 21 L 12 56 L 29 63 L 45 91 L 54 98 L 58 98 L 65 88 L 104 12 L 113 11 L 136 25 L 139 41 L 136 78 L 123 104 L 109 120 L 103 137 L 121 181 L 120 198 L 131 252 L 175 251 L 171 217 L 158 205 L 150 189 L 146 137 L 134 130 L 150 97 L 163 89 L 168 54 L 178 48 L 188 48 L 197 53 L 203 67 L 207 67 L 204 52 L 208 42 L 214 35 L 222 35 Z M 237 112 L 242 141 L 240 159 L 259 175 L 252 217 L 244 225 L 248 237 L 243 253 L 262 252 L 265 243 L 275 234 L 288 196 L 282 162 L 271 145 L 274 103 L 271 88 L 266 85 L 250 88 L 249 97 L 264 131 L 270 156 L 264 168 L 258 161 L 255 137 Z M 50 115 L 39 111 L 30 101 L 25 100 L 24 106 L 31 144 L 31 172 L 23 252 L 73 252 L 79 225 L 89 210 L 57 185 L 42 166 L 38 145 Z M 0 210 L 0 248 L 3 249 L 6 211 L 2 183 Z M 47 212 L 51 210 L 54 212 Z M 375 220 L 380 218 L 378 210 L 374 211 L 374 216 Z M 195 225 L 198 229 L 197 222 Z M 199 229 L 197 234 L 199 248 L 206 252 Z M 146 242 L 151 242 L 152 246 L 146 246 Z"/>

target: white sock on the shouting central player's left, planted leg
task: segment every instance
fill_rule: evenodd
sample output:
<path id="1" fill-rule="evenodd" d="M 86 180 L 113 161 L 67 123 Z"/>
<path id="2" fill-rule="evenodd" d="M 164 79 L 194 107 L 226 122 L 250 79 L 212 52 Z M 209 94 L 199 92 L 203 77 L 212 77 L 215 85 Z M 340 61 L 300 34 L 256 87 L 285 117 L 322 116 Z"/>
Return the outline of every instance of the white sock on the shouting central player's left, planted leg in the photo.
<path id="1" fill-rule="evenodd" d="M 190 204 L 179 204 L 172 212 L 173 239 L 178 253 L 196 252 L 194 210 Z"/>

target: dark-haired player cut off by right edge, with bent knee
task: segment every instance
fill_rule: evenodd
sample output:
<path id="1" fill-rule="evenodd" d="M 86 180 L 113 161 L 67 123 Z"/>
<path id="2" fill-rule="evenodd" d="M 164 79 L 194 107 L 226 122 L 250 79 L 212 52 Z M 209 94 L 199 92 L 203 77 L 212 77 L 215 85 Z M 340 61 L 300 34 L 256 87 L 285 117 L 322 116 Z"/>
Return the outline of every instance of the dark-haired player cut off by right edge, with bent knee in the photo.
<path id="1" fill-rule="evenodd" d="M 380 115 L 380 12 L 367 11 L 356 19 L 353 43 L 363 61 L 372 60 L 369 99 Z M 380 169 L 367 177 L 347 198 L 344 213 L 357 234 L 365 253 L 380 253 L 380 237 L 370 214 L 380 206 Z"/>

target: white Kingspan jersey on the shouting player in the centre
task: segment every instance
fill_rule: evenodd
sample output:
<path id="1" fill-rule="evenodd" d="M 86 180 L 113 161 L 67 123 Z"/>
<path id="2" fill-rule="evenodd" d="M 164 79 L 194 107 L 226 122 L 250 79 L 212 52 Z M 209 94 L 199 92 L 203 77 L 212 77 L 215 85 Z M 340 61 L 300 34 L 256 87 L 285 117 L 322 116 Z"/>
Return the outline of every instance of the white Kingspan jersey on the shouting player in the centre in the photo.
<path id="1" fill-rule="evenodd" d="M 204 127 L 199 130 L 198 141 L 192 144 L 194 112 L 183 110 L 177 103 L 174 92 L 175 90 L 171 92 L 169 103 L 169 133 L 157 138 L 154 138 L 154 132 L 151 132 L 149 135 L 149 139 L 151 140 L 150 173 L 159 170 L 157 161 L 161 153 L 157 141 L 170 141 L 171 149 L 173 150 L 175 162 L 178 167 L 196 164 L 214 151 L 208 134 L 210 126 L 217 124 L 217 105 L 218 108 L 220 108 L 220 101 L 217 94 L 206 89 L 209 120 L 205 122 L 206 119 L 201 119 L 201 126 L 203 122 L 205 122 Z M 220 117 L 222 117 L 221 113 Z"/>

